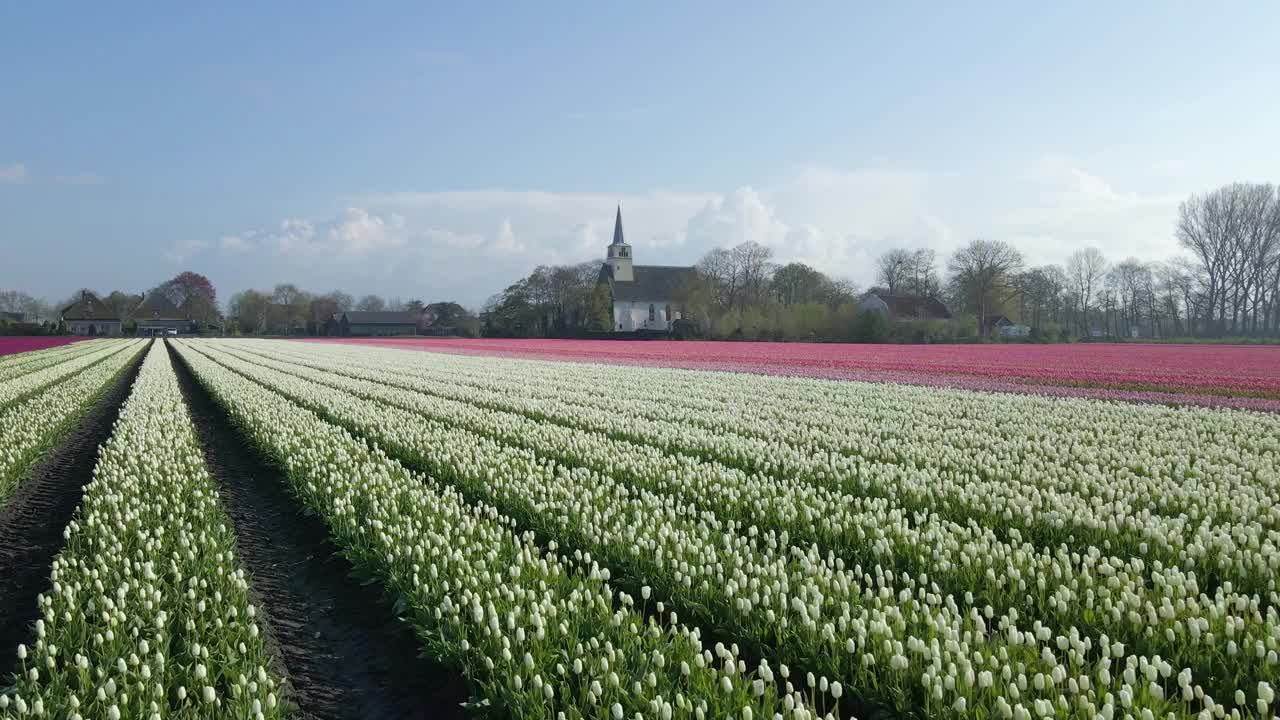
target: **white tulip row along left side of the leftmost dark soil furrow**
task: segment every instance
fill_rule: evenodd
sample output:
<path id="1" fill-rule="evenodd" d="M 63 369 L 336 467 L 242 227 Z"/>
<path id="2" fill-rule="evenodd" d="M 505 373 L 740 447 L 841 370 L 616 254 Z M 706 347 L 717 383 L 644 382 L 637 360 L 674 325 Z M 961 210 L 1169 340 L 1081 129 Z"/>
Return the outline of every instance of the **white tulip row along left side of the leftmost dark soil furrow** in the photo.
<path id="1" fill-rule="evenodd" d="M 143 346 L 145 341 L 99 346 L 88 357 L 67 363 L 78 366 L 74 374 L 0 411 L 0 502 L 18 487 L 31 464 L 119 379 Z"/>

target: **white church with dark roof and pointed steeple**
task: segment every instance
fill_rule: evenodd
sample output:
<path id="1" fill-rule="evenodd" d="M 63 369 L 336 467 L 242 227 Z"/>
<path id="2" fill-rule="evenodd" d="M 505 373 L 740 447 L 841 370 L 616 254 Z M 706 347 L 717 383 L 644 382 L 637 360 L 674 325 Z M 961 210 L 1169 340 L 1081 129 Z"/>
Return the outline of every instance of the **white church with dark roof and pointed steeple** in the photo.
<path id="1" fill-rule="evenodd" d="M 632 260 L 631 246 L 622 237 L 622 206 L 618 206 L 613 242 L 599 278 L 608 284 L 613 300 L 613 332 L 669 332 L 672 323 L 684 315 L 681 299 L 696 277 L 694 268 L 635 265 Z"/>

